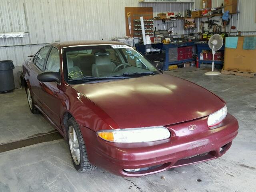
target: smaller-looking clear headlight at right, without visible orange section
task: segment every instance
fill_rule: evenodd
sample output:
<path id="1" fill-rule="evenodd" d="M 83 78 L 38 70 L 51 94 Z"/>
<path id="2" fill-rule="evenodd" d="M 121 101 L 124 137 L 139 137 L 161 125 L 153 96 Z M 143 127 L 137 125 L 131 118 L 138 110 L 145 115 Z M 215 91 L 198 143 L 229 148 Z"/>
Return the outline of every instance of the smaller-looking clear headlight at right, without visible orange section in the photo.
<path id="1" fill-rule="evenodd" d="M 215 113 L 210 114 L 207 120 L 208 127 L 212 128 L 218 125 L 220 122 L 222 122 L 222 120 L 224 120 L 227 114 L 228 108 L 226 107 L 226 105 Z"/>

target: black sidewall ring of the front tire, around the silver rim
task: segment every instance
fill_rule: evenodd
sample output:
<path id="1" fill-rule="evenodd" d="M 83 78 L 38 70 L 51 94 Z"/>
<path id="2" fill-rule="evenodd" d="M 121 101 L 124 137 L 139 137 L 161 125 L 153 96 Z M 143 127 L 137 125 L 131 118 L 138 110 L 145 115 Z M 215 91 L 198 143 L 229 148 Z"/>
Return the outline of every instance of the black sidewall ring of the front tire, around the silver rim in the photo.
<path id="1" fill-rule="evenodd" d="M 79 162 L 78 165 L 74 162 L 74 159 L 73 159 L 73 156 L 72 156 L 72 153 L 71 153 L 71 150 L 70 150 L 70 145 L 69 145 L 69 127 L 70 126 L 73 126 L 73 128 L 76 132 L 76 137 L 78 139 L 79 152 L 80 152 L 80 162 Z M 84 156 L 84 154 L 83 154 L 83 150 L 82 150 L 82 143 L 81 143 L 81 140 L 80 140 L 80 137 L 79 137 L 80 134 L 78 132 L 78 129 L 79 129 L 79 127 L 77 127 L 76 123 L 74 123 L 73 120 L 68 120 L 68 123 L 67 123 L 67 142 L 68 142 L 68 149 L 69 149 L 70 157 L 72 159 L 74 167 L 77 170 L 82 170 L 82 165 L 84 164 L 84 162 L 83 162 L 84 158 L 82 158 L 82 157 Z"/>

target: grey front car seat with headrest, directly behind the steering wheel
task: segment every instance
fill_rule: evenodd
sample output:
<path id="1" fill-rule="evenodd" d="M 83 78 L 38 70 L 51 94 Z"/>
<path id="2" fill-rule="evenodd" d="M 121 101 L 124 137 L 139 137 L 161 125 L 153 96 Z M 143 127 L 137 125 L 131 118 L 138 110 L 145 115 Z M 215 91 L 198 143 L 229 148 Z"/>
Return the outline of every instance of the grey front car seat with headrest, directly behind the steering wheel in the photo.
<path id="1" fill-rule="evenodd" d="M 92 76 L 108 76 L 116 68 L 116 64 L 110 61 L 110 52 L 96 52 L 94 56 L 95 63 L 92 64 Z"/>

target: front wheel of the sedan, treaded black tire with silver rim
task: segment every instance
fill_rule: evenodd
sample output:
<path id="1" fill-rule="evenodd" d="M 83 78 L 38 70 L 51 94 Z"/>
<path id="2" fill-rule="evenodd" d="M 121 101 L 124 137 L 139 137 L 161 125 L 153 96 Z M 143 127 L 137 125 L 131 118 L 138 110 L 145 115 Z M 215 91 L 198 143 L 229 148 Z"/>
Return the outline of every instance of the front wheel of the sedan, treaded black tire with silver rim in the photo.
<path id="1" fill-rule="evenodd" d="M 76 135 L 74 135 L 74 133 Z M 97 168 L 88 160 L 84 138 L 73 117 L 71 117 L 67 123 L 67 141 L 72 162 L 78 172 L 88 172 Z"/>

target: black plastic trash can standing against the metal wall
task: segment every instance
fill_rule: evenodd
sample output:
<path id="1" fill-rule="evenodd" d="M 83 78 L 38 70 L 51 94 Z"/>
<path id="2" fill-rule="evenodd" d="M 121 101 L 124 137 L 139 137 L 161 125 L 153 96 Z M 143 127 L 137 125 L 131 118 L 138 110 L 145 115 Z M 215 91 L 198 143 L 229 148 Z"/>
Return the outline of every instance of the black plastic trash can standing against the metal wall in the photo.
<path id="1" fill-rule="evenodd" d="M 0 92 L 15 89 L 13 69 L 14 65 L 11 60 L 0 61 Z"/>

